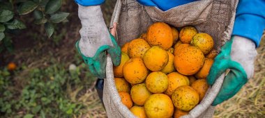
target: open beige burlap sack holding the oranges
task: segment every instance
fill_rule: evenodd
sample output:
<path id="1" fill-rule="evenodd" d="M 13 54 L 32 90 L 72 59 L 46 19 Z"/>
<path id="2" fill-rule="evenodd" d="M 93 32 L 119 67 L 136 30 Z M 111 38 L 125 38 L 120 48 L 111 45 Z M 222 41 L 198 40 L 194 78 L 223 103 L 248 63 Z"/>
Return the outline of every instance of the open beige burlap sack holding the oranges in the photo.
<path id="1" fill-rule="evenodd" d="M 118 23 L 117 42 L 122 45 L 146 32 L 154 22 L 166 22 L 175 27 L 192 25 L 199 32 L 209 33 L 215 41 L 215 49 L 220 51 L 230 39 L 234 26 L 236 6 L 239 0 L 202 0 L 178 6 L 167 11 L 152 6 L 142 6 L 135 0 L 117 0 L 112 15 L 111 26 Z M 121 103 L 114 85 L 112 61 L 107 58 L 107 78 L 103 90 L 103 102 L 108 117 L 135 117 Z M 225 75 L 222 74 L 209 87 L 204 99 L 188 115 L 183 117 L 212 117 L 211 103 L 217 96 Z"/>

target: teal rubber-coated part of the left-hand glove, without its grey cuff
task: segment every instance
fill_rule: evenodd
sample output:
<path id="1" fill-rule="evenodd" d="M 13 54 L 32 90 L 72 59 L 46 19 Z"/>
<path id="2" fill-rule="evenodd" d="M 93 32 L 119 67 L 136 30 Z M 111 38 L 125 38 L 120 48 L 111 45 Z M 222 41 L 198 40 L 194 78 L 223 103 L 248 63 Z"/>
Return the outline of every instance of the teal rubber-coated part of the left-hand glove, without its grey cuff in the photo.
<path id="1" fill-rule="evenodd" d="M 103 45 L 96 51 L 96 54 L 91 58 L 86 57 L 81 53 L 79 49 L 79 41 L 77 41 L 75 44 L 77 51 L 84 59 L 86 65 L 89 66 L 89 71 L 91 72 L 91 74 L 97 76 L 98 78 L 106 78 L 107 53 L 109 53 L 109 56 L 112 58 L 114 66 L 118 66 L 121 62 L 121 47 L 119 47 L 119 45 L 117 44 L 115 37 L 110 33 L 109 35 L 112 39 L 113 47 L 109 45 Z"/>

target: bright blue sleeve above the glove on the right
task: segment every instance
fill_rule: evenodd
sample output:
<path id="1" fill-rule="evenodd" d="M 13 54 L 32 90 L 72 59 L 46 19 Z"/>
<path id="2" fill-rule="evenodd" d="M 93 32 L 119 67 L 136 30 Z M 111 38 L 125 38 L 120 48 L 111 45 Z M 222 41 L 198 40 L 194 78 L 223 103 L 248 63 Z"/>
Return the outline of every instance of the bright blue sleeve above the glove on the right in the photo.
<path id="1" fill-rule="evenodd" d="M 241 0 L 236 10 L 232 35 L 246 37 L 259 47 L 265 29 L 265 0 Z"/>

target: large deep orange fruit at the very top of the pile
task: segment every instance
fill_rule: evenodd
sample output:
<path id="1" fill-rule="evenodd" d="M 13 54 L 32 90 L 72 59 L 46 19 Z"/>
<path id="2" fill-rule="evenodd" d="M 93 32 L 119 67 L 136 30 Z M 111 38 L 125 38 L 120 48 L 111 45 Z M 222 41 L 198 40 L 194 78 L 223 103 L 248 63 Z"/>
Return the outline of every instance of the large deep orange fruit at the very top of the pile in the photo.
<path id="1" fill-rule="evenodd" d="M 173 44 L 171 27 L 164 22 L 152 24 L 147 30 L 147 42 L 151 46 L 160 46 L 165 50 L 169 49 Z"/>

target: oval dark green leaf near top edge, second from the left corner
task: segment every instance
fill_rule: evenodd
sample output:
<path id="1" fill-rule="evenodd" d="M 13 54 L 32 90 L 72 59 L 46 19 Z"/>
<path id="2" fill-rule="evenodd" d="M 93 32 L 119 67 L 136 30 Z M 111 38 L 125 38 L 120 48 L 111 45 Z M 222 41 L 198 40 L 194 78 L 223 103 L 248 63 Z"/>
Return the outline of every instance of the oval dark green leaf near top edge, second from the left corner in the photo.
<path id="1" fill-rule="evenodd" d="M 38 8 L 38 4 L 34 3 L 33 1 L 26 1 L 22 3 L 19 7 L 20 15 L 27 15 L 29 12 L 32 12 Z"/>

